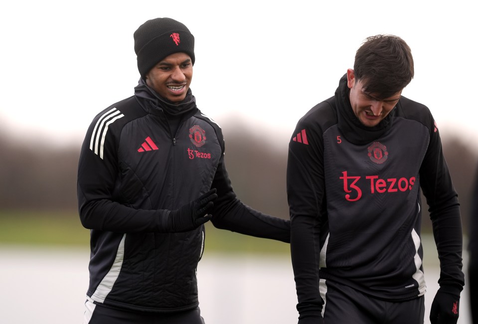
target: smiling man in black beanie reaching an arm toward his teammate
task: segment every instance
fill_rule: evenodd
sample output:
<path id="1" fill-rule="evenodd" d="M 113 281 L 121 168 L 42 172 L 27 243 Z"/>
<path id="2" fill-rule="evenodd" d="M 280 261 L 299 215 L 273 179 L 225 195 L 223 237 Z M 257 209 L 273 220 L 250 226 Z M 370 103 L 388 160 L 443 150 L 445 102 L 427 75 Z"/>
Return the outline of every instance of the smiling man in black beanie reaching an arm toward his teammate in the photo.
<path id="1" fill-rule="evenodd" d="M 289 242 L 290 222 L 236 197 L 222 131 L 189 89 L 189 29 L 156 18 L 134 39 L 135 95 L 93 119 L 78 164 L 79 214 L 91 230 L 83 323 L 202 324 L 196 267 L 204 223 Z"/>

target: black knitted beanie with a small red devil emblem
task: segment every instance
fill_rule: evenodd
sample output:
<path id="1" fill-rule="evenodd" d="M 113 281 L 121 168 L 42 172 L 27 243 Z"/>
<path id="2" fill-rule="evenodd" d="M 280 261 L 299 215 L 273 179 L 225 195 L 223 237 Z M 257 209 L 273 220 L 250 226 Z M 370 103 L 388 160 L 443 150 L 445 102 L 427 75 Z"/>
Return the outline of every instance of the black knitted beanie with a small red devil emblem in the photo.
<path id="1" fill-rule="evenodd" d="M 146 21 L 134 33 L 138 70 L 142 77 L 164 57 L 184 52 L 194 65 L 194 36 L 187 27 L 171 18 Z"/>

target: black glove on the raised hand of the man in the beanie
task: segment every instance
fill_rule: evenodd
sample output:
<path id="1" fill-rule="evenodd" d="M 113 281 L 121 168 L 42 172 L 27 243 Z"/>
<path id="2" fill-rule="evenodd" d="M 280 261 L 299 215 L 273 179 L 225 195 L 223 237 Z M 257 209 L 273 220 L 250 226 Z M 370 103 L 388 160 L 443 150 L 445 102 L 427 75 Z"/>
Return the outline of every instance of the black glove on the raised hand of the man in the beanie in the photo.
<path id="1" fill-rule="evenodd" d="M 211 189 L 196 200 L 171 210 L 168 218 L 168 228 L 172 232 L 187 232 L 204 224 L 211 219 L 211 215 L 207 211 L 212 208 L 212 202 L 217 198 L 216 189 Z"/>

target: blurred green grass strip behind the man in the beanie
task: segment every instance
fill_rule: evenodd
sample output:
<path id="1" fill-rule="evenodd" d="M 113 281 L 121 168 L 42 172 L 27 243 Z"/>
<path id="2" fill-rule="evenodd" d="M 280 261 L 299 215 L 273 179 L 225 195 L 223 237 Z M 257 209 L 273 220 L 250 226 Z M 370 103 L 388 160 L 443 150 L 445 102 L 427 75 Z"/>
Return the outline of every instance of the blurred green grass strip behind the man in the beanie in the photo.
<path id="1" fill-rule="evenodd" d="M 90 232 L 77 213 L 61 211 L 0 211 L 0 244 L 89 248 Z M 208 253 L 290 255 L 289 244 L 259 239 L 206 224 Z"/>

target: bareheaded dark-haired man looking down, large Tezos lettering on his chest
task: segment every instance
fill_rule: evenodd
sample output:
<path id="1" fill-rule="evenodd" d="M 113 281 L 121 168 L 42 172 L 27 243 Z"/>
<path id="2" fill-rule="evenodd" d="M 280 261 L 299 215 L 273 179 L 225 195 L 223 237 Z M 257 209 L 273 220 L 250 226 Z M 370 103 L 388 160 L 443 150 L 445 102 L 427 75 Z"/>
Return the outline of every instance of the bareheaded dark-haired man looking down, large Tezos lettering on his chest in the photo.
<path id="1" fill-rule="evenodd" d="M 421 190 L 441 269 L 430 321 L 457 323 L 458 197 L 432 114 L 401 95 L 413 75 L 400 37 L 369 37 L 335 95 L 297 124 L 287 193 L 300 324 L 423 323 Z"/>

